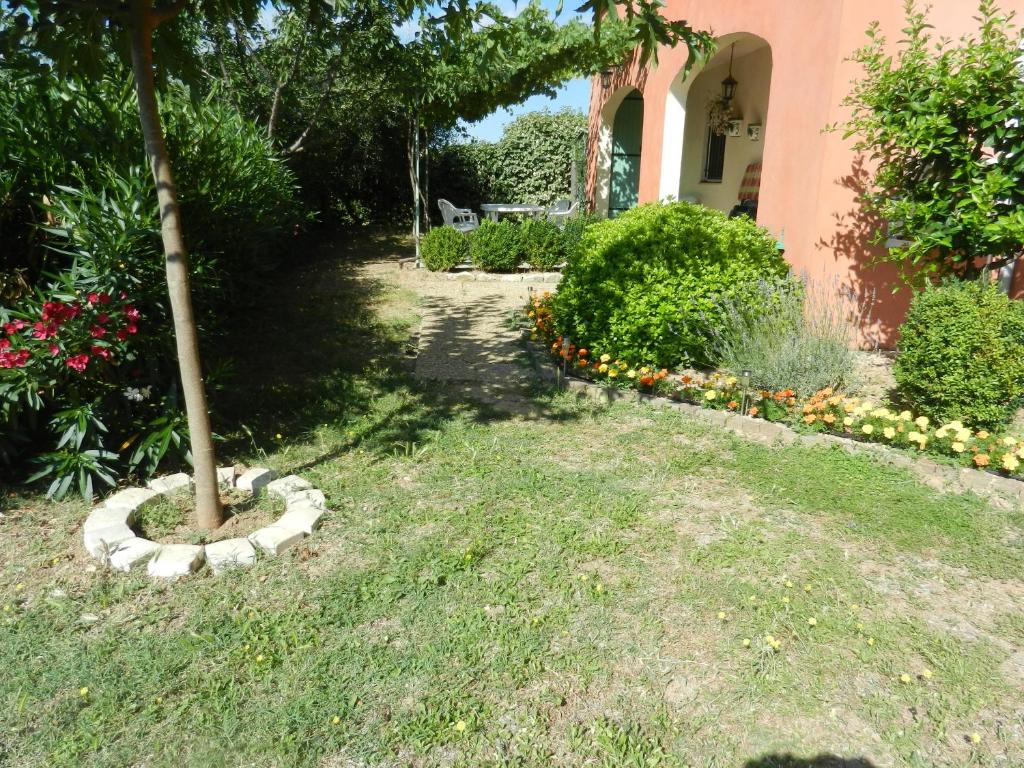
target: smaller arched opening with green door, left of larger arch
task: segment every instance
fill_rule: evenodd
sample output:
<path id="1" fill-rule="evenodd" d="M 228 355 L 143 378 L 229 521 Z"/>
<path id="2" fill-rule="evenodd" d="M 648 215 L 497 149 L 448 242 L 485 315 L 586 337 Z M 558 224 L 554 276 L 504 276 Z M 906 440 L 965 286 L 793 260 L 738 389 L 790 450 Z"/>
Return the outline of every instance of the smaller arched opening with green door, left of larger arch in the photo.
<path id="1" fill-rule="evenodd" d="M 640 157 L 643 151 L 643 95 L 626 87 L 613 93 L 601 110 L 595 210 L 613 217 L 640 199 Z"/>

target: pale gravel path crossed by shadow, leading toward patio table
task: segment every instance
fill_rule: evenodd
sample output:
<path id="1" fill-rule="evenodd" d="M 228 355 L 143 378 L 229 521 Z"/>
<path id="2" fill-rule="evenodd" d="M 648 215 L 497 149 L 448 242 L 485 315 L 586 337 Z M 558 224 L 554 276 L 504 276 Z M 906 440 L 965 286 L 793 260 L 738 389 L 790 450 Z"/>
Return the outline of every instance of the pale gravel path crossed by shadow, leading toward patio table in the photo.
<path id="1" fill-rule="evenodd" d="M 473 280 L 408 266 L 394 276 L 420 298 L 418 378 L 441 383 L 456 397 L 519 416 L 540 415 L 528 396 L 537 377 L 524 357 L 515 313 L 526 304 L 530 289 L 554 288 L 550 278 Z"/>

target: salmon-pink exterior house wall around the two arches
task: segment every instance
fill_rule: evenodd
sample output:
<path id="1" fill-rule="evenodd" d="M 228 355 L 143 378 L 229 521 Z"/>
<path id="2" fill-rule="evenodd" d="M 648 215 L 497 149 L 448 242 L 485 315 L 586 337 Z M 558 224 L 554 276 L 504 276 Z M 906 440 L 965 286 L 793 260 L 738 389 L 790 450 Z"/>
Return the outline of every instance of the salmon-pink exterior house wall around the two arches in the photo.
<path id="1" fill-rule="evenodd" d="M 883 346 L 897 340 L 909 292 L 893 295 L 894 270 L 870 265 L 878 255 L 868 242 L 877 222 L 857 202 L 867 169 L 850 141 L 823 129 L 847 117 L 841 102 L 859 72 L 845 59 L 864 44 L 864 32 L 872 20 L 882 24 L 890 41 L 898 41 L 904 26 L 902 5 L 896 0 L 669 0 L 664 11 L 669 18 L 687 19 L 716 37 L 749 33 L 771 46 L 758 222 L 778 237 L 784 231 L 785 257 L 797 272 L 838 281 L 865 301 L 873 299 L 862 340 Z M 1004 0 L 1002 7 L 1024 13 L 1024 0 Z M 972 0 L 932 0 L 930 20 L 937 35 L 955 38 L 976 29 L 976 12 Z M 682 48 L 663 49 L 656 67 L 643 70 L 634 65 L 608 89 L 599 79 L 592 86 L 592 147 L 599 140 L 606 98 L 626 85 L 644 96 L 641 203 L 659 197 L 666 109 L 686 56 Z M 598 162 L 597 153 L 591 153 L 592 199 Z M 1022 272 L 1018 269 L 1017 288 L 1024 292 Z"/>

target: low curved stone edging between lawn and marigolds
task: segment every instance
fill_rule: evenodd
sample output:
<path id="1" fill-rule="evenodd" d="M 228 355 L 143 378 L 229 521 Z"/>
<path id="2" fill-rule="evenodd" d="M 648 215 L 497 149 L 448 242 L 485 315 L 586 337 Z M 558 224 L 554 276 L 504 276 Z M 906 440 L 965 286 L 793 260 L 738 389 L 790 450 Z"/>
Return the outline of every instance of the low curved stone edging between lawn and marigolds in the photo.
<path id="1" fill-rule="evenodd" d="M 529 341 L 526 341 L 525 345 L 534 368 L 542 379 L 592 400 L 609 403 L 615 401 L 641 402 L 663 411 L 678 411 L 693 419 L 724 427 L 730 432 L 757 442 L 786 445 L 799 443 L 808 446 L 834 445 L 848 454 L 870 454 L 886 464 L 910 470 L 921 478 L 922 482 L 937 490 L 944 493 L 970 490 L 1002 507 L 1009 505 L 1011 509 L 1024 508 L 1024 482 L 1012 477 L 1002 477 L 970 467 L 950 467 L 927 457 L 912 458 L 894 449 L 873 442 L 861 442 L 826 433 L 803 434 L 784 424 L 764 419 L 754 419 L 727 411 L 714 411 L 689 402 L 680 402 L 668 397 L 629 389 L 603 387 L 600 384 L 572 376 L 565 377 L 557 368 L 541 362 L 538 359 L 539 350 Z"/>

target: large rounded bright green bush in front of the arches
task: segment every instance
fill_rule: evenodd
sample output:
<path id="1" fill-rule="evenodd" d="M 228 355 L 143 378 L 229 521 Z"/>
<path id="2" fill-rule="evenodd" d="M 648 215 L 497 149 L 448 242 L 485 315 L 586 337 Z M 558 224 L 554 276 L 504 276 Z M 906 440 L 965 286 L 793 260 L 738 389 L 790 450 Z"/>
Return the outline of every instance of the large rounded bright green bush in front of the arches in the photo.
<path id="1" fill-rule="evenodd" d="M 788 272 L 775 239 L 745 218 L 652 204 L 586 229 L 554 301 L 558 330 L 633 365 L 710 364 L 723 299 L 755 300 Z"/>

